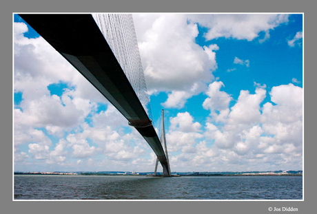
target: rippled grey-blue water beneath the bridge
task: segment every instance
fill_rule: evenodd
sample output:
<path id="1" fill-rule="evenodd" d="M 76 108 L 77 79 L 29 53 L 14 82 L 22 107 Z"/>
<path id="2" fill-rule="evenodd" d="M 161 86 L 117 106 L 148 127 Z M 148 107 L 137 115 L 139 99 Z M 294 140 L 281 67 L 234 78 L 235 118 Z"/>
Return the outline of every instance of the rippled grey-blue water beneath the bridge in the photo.
<path id="1" fill-rule="evenodd" d="M 302 200 L 302 176 L 14 175 L 15 200 Z"/>

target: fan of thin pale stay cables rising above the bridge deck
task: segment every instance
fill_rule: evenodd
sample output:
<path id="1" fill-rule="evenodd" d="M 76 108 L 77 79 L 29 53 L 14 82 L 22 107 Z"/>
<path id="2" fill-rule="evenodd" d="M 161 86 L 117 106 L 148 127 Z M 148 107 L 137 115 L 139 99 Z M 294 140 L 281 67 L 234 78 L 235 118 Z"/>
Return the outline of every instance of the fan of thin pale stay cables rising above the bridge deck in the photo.
<path id="1" fill-rule="evenodd" d="M 153 121 L 132 14 L 92 14 L 92 17 Z"/>

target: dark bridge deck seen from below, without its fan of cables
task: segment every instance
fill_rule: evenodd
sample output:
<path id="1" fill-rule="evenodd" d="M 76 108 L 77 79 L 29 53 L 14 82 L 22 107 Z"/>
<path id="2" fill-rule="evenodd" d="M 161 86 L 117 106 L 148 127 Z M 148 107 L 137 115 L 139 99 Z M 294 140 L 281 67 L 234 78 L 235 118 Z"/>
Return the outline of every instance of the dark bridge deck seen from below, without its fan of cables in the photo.
<path id="1" fill-rule="evenodd" d="M 163 175 L 171 176 L 167 153 L 165 155 L 152 121 L 92 15 L 19 16 L 123 114 L 129 125 L 135 127 L 153 149 L 163 167 Z"/>

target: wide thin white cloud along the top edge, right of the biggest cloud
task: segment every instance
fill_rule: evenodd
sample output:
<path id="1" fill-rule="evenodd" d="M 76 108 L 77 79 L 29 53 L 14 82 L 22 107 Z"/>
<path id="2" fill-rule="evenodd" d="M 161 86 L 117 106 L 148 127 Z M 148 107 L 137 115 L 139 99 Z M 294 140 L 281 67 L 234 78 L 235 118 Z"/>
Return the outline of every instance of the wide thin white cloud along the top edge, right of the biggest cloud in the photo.
<path id="1" fill-rule="evenodd" d="M 288 17 L 288 14 L 198 14 L 191 19 L 208 28 L 207 41 L 220 37 L 252 41 L 264 32 L 264 38 L 260 39 L 263 42 L 269 39 L 270 30 L 288 23 Z"/>

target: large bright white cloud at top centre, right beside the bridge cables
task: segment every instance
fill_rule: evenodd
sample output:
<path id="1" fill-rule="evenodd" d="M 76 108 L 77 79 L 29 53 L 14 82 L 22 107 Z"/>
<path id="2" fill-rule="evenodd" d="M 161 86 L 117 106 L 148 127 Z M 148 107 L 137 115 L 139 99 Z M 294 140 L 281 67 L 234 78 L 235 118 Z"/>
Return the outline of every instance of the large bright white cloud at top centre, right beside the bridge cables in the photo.
<path id="1" fill-rule="evenodd" d="M 196 44 L 198 28 L 185 14 L 134 14 L 147 88 L 172 92 L 164 107 L 182 108 L 203 92 L 217 67 L 215 44 Z"/>

